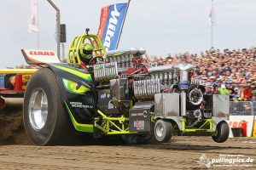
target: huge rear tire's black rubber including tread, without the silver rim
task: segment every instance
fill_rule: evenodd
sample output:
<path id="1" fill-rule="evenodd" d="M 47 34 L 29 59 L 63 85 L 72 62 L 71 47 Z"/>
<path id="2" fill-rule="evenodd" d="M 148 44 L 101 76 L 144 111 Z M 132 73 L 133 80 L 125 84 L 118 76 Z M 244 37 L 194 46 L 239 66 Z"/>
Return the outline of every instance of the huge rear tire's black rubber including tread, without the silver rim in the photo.
<path id="1" fill-rule="evenodd" d="M 29 117 L 29 106 L 35 90 L 42 89 L 48 100 L 48 116 L 44 127 L 35 129 Z M 23 105 L 23 120 L 28 139 L 37 145 L 68 144 L 71 135 L 71 123 L 61 105 L 61 94 L 53 71 L 41 69 L 33 74 L 29 80 Z"/>

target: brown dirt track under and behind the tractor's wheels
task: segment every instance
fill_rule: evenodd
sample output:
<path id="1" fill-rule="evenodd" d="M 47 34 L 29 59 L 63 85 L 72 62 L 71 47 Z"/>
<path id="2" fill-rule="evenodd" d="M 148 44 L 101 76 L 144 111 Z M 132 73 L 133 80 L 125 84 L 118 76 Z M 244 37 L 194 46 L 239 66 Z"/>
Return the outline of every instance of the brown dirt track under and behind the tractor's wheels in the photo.
<path id="1" fill-rule="evenodd" d="M 27 141 L 19 114 L 0 117 L 0 125 L 0 169 L 206 169 L 198 162 L 202 154 L 207 156 L 204 162 L 223 155 L 251 157 L 253 164 L 246 165 L 253 167 L 222 168 L 256 169 L 255 138 L 229 139 L 224 144 L 211 137 L 173 137 L 168 144 L 38 147 Z"/>

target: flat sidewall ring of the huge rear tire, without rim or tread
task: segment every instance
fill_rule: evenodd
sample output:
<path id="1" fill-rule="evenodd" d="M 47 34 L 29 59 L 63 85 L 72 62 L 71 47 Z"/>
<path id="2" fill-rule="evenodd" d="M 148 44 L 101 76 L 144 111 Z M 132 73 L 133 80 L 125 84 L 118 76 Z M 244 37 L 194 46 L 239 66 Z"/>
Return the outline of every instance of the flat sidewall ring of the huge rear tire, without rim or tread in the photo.
<path id="1" fill-rule="evenodd" d="M 38 89 L 44 90 L 44 93 L 46 94 L 48 100 L 48 116 L 44 127 L 42 127 L 40 130 L 36 130 L 32 127 L 32 124 L 29 120 L 28 112 L 32 93 Z M 49 78 L 45 74 L 43 74 L 42 71 L 36 72 L 27 84 L 26 93 L 24 96 L 23 119 L 27 136 L 33 144 L 45 145 L 49 143 L 49 139 L 55 131 L 57 112 L 55 95 L 56 94 L 52 82 L 49 81 Z"/>

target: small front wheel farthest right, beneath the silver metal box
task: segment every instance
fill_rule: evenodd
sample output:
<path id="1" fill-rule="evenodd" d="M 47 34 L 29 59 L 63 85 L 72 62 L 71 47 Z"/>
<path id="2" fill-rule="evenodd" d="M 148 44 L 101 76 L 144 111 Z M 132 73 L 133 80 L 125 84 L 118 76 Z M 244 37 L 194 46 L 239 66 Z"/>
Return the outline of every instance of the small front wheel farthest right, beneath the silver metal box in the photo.
<path id="1" fill-rule="evenodd" d="M 227 122 L 219 122 L 216 127 L 217 135 L 212 135 L 212 139 L 217 143 L 223 143 L 229 138 L 230 127 Z"/>

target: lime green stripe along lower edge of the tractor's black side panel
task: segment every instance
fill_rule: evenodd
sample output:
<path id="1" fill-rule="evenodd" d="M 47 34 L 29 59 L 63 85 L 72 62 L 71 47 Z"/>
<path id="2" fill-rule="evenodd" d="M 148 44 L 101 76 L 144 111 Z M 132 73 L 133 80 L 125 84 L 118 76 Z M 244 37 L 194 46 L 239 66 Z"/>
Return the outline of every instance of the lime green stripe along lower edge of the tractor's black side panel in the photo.
<path id="1" fill-rule="evenodd" d="M 75 129 L 77 131 L 80 131 L 80 132 L 84 132 L 84 133 L 93 133 L 93 125 L 92 124 L 81 124 L 79 122 L 77 122 L 75 120 L 75 118 L 73 117 L 73 114 L 72 112 L 70 111 L 66 101 L 64 101 L 66 107 L 67 107 L 67 112 L 71 118 L 71 121 L 73 122 L 73 127 L 75 127 Z"/>

